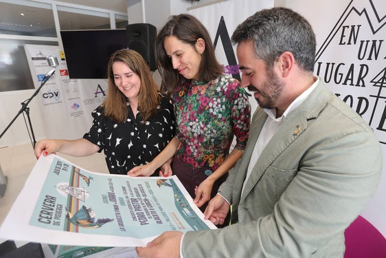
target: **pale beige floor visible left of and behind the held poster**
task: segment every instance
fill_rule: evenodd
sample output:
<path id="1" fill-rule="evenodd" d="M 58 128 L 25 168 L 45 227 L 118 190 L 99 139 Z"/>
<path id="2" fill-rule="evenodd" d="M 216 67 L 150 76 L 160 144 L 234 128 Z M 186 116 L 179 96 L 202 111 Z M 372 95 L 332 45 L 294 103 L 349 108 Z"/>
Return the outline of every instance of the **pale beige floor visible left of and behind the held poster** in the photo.
<path id="1" fill-rule="evenodd" d="M 109 173 L 103 153 L 95 153 L 94 155 L 83 158 L 62 154 L 58 155 L 83 169 L 93 172 Z M 30 175 L 35 162 L 36 157 L 31 143 L 0 148 L 0 167 L 4 177 L 7 178 L 8 181 L 5 193 L 3 197 L 0 198 L 0 226 L 8 211 L 10 211 L 17 195 L 19 195 L 23 188 L 25 180 L 27 180 L 28 175 Z M 0 184 L 3 184 L 3 182 L 0 181 Z M 5 239 L 0 239 L 0 243 L 3 241 L 5 241 Z"/>

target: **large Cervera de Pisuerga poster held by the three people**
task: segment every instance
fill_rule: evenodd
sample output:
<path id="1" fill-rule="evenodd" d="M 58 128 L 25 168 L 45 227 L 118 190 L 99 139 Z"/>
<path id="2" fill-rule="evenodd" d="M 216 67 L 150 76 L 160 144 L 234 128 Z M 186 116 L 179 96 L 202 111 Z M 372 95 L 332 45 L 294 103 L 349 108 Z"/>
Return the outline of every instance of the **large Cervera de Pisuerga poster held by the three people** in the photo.
<path id="1" fill-rule="evenodd" d="M 76 246 L 142 246 L 169 230 L 216 228 L 178 178 L 86 171 L 41 156 L 5 218 L 0 237 Z"/>

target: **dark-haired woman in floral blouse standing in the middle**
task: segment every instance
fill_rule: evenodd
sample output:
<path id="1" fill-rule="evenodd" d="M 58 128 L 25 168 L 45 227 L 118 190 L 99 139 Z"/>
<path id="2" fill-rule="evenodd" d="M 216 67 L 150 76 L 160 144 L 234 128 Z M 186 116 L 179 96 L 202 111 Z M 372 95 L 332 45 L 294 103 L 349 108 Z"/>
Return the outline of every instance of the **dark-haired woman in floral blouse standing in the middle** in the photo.
<path id="1" fill-rule="evenodd" d="M 148 175 L 174 156 L 166 175 L 177 175 L 204 211 L 245 149 L 249 100 L 238 80 L 224 74 L 209 33 L 195 17 L 170 17 L 155 47 L 161 90 L 174 100 L 176 136 L 157 158 L 128 175 Z M 236 146 L 229 153 L 234 136 Z"/>

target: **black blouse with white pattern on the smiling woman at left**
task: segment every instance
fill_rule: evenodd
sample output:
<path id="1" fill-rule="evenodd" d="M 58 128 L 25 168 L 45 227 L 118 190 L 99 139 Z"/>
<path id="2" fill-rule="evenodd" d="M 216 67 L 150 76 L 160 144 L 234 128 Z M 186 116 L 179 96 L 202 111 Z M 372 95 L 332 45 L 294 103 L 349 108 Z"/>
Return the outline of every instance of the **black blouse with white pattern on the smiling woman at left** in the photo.
<path id="1" fill-rule="evenodd" d="M 104 151 L 111 174 L 124 174 L 134 166 L 152 161 L 170 140 L 175 131 L 175 118 L 170 98 L 161 98 L 159 112 L 142 122 L 141 112 L 136 118 L 128 105 L 128 119 L 114 122 L 104 116 L 104 107 L 96 108 L 91 115 L 93 125 L 83 138 L 97 144 Z M 153 175 L 158 175 L 158 170 Z"/>

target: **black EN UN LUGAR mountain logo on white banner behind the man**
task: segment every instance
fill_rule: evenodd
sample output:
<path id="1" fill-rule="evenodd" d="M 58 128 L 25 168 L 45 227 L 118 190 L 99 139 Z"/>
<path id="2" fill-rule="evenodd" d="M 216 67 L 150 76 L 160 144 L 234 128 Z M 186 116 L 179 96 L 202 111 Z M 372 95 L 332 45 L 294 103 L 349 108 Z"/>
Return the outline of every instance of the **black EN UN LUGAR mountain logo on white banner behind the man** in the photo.
<path id="1" fill-rule="evenodd" d="M 315 72 L 386 144 L 386 6 L 352 0 L 317 51 Z"/>

